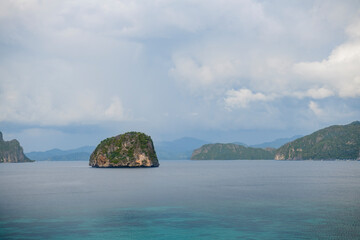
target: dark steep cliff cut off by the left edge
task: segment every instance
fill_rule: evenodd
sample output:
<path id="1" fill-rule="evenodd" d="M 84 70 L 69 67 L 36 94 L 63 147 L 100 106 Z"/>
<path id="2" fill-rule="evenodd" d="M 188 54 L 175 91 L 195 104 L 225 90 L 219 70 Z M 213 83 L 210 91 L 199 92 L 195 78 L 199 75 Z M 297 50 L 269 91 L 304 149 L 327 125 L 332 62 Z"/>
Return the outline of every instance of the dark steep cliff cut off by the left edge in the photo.
<path id="1" fill-rule="evenodd" d="M 4 141 L 0 132 L 0 163 L 32 162 L 24 155 L 23 148 L 17 140 Z"/>

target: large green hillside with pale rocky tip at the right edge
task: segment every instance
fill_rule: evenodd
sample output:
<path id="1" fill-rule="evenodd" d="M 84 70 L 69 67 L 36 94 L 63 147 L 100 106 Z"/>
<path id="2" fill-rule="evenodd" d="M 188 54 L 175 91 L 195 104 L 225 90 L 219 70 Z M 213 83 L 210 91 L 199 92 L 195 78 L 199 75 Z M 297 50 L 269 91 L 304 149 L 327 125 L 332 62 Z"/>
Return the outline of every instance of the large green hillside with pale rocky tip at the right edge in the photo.
<path id="1" fill-rule="evenodd" d="M 276 160 L 360 159 L 360 122 L 335 125 L 287 143 Z"/>

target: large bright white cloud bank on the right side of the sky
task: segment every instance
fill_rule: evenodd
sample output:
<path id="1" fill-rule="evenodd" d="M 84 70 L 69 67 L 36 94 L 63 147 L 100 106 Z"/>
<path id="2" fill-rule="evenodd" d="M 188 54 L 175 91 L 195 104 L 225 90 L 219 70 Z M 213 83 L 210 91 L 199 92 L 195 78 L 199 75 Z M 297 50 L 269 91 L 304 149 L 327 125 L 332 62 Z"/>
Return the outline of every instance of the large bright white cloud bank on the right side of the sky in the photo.
<path id="1" fill-rule="evenodd" d="M 300 103 L 304 98 L 357 98 L 360 96 L 359 26 L 359 21 L 353 20 L 346 28 L 345 42 L 335 46 L 321 61 L 296 61 L 281 50 L 274 54 L 263 49 L 259 54 L 253 50 L 253 43 L 245 42 L 250 52 L 231 41 L 226 45 L 220 39 L 218 42 L 224 44 L 217 47 L 210 40 L 196 45 L 198 48 L 178 52 L 173 56 L 170 75 L 192 94 L 222 98 L 226 109 L 246 108 L 253 102 L 271 103 L 275 99 L 293 98 Z M 315 105 L 311 106 L 315 110 Z"/>

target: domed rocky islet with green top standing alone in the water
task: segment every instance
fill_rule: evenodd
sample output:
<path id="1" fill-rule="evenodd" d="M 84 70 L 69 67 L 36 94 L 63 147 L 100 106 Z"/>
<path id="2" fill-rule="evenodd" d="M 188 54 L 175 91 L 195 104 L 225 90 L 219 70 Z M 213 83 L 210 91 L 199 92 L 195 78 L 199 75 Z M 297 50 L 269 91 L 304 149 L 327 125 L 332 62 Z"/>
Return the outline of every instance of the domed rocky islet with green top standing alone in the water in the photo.
<path id="1" fill-rule="evenodd" d="M 129 132 L 103 140 L 90 156 L 92 167 L 158 167 L 150 136 Z"/>

